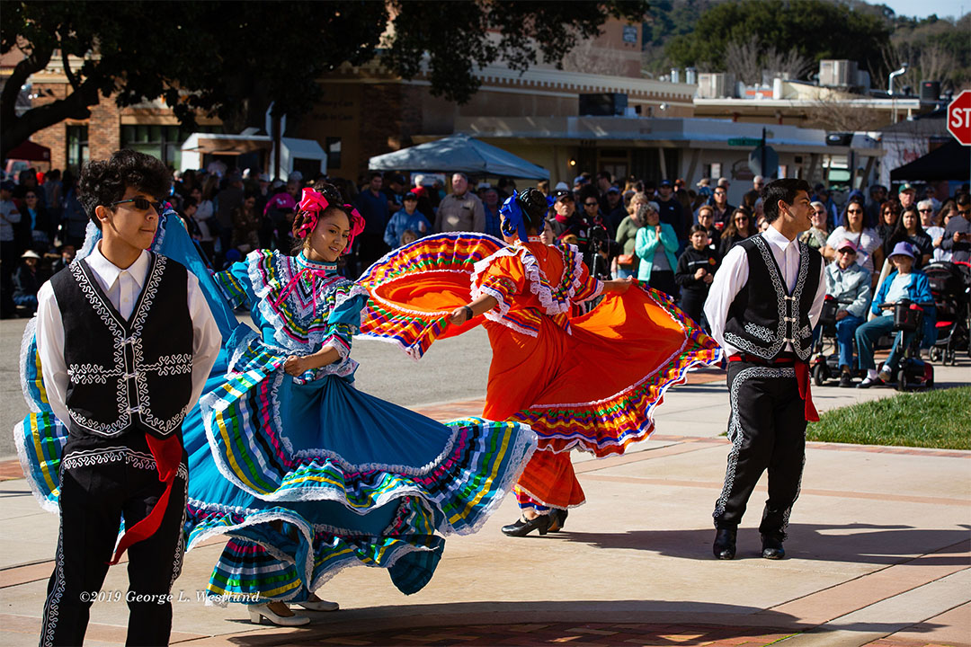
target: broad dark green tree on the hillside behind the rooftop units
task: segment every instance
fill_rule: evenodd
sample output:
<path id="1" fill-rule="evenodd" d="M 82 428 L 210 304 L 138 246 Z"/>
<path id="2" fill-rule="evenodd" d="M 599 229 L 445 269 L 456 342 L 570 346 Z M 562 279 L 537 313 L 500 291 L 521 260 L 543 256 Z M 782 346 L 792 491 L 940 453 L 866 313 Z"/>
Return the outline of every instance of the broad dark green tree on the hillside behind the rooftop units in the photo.
<path id="1" fill-rule="evenodd" d="M 824 0 L 743 0 L 716 5 L 692 32 L 675 37 L 667 53 L 676 65 L 723 71 L 729 43 L 755 39 L 763 48 L 795 51 L 814 60 L 849 58 L 863 65 L 887 42 L 886 19 Z M 878 73 L 877 70 L 872 70 Z"/>

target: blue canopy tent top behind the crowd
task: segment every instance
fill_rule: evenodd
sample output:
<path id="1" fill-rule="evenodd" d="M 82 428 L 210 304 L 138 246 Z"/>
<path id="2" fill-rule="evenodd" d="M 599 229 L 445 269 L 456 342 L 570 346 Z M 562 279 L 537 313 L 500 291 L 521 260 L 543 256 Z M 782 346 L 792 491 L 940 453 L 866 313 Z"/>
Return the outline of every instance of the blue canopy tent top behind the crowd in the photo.
<path id="1" fill-rule="evenodd" d="M 469 135 L 450 135 L 376 155 L 368 160 L 371 171 L 462 172 L 476 176 L 550 179 L 550 172 L 502 148 Z"/>

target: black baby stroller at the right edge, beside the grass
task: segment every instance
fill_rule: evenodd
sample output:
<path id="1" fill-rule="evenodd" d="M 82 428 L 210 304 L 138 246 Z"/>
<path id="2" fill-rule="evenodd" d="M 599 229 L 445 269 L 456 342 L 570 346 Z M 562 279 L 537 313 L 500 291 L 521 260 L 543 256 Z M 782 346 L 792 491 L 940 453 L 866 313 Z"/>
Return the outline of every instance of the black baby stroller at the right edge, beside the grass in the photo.
<path id="1" fill-rule="evenodd" d="M 957 351 L 968 350 L 971 330 L 971 298 L 967 264 L 938 261 L 923 269 L 937 308 L 937 340 L 930 360 L 944 366 L 957 364 Z"/>

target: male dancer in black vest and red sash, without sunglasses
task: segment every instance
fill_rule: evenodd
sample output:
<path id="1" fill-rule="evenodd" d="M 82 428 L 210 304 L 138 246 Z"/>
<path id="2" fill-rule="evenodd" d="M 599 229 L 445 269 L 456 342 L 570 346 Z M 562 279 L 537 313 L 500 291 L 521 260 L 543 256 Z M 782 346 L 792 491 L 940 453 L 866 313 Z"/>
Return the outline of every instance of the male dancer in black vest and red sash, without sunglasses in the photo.
<path id="1" fill-rule="evenodd" d="M 819 420 L 809 390 L 813 327 L 826 283 L 820 253 L 796 237 L 810 228 L 810 186 L 777 179 L 762 189 L 769 228 L 725 254 L 705 315 L 728 355 L 731 415 L 728 469 L 715 505 L 720 560 L 735 557 L 735 534 L 755 483 L 769 470 L 762 557 L 786 555 L 789 511 L 799 496 L 806 421 Z"/>

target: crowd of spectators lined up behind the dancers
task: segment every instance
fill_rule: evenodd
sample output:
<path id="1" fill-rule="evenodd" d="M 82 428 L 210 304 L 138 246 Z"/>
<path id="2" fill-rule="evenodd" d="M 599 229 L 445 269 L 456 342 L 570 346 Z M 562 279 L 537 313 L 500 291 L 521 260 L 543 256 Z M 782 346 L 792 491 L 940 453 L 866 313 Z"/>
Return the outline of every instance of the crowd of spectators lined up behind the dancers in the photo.
<path id="1" fill-rule="evenodd" d="M 257 248 L 289 251 L 301 191 L 322 174 L 304 178 L 293 172 L 282 180 L 258 171 L 210 168 L 173 172 L 167 200 L 213 269 Z M 84 242 L 88 221 L 72 174 L 50 171 L 41 179 L 28 170 L 17 179 L 3 182 L 0 192 L 4 316 L 13 315 L 15 307 L 32 311 L 36 287 L 70 262 Z M 399 173 L 371 172 L 358 182 L 328 181 L 366 222 L 344 259 L 343 272 L 351 277 L 387 251 L 431 233 L 482 232 L 501 238 L 499 208 L 517 190 L 511 178 L 492 184 L 474 182 L 463 173 L 406 179 Z M 701 306 L 720 260 L 733 245 L 767 226 L 759 197 L 764 183 L 764 178 L 753 178 L 738 207 L 728 203 L 727 178 L 703 178 L 688 187 L 684 179 L 614 178 L 601 171 L 582 173 L 571 184 L 541 181 L 537 188 L 551 202 L 545 239 L 577 244 L 592 274 L 636 276 L 704 325 Z M 853 265 L 868 274 L 872 290 L 898 243 L 916 250 L 917 271 L 932 260 L 968 258 L 966 187 L 956 200 L 943 203 L 933 187 L 918 196 L 909 184 L 899 188 L 895 199 L 887 198 L 882 186 L 869 188 L 869 201 L 854 191 L 842 206 L 819 184 L 812 198 L 813 228 L 801 240 L 837 267 L 844 250 L 852 247 Z M 861 317 L 855 313 L 854 318 Z"/>

